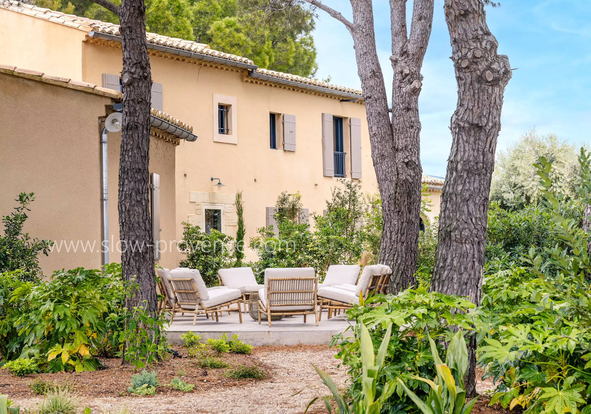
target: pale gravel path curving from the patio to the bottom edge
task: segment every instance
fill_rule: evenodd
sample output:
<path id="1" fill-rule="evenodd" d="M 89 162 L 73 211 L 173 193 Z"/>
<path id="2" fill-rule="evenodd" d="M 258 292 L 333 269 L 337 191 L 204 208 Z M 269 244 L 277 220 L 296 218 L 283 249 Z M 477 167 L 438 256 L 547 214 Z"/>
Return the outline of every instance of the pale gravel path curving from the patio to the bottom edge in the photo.
<path id="1" fill-rule="evenodd" d="M 272 370 L 269 381 L 254 381 L 227 389 L 214 388 L 182 395 L 145 397 L 81 398 L 82 405 L 94 413 L 109 412 L 127 406 L 131 414 L 297 414 L 303 413 L 318 391 L 328 393 L 311 364 L 333 376 L 338 387 L 344 387 L 346 373 L 337 368 L 335 350 L 282 351 L 281 348 L 259 351 L 254 355 Z M 293 396 L 294 393 L 303 390 Z M 39 398 L 14 399 L 21 407 L 35 408 Z M 326 412 L 318 400 L 310 412 Z"/>

